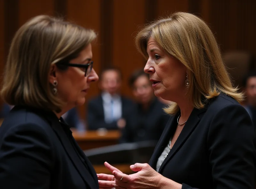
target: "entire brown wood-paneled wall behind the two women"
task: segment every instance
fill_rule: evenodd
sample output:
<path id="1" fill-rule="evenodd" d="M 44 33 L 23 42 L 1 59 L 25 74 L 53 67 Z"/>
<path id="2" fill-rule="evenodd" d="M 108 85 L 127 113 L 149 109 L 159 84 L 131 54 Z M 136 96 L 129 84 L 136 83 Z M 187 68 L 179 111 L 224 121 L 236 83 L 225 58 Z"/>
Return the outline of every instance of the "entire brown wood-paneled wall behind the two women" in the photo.
<path id="1" fill-rule="evenodd" d="M 0 0 L 0 73 L 10 41 L 24 22 L 39 14 L 62 16 L 97 32 L 94 69 L 99 73 L 118 66 L 124 75 L 122 93 L 132 97 L 128 77 L 146 63 L 134 46 L 139 26 L 175 11 L 195 13 L 210 25 L 222 52 L 246 50 L 255 56 L 255 8 L 255 0 Z M 98 85 L 92 84 L 87 99 L 97 94 Z M 79 107 L 84 119 L 85 106 Z"/>

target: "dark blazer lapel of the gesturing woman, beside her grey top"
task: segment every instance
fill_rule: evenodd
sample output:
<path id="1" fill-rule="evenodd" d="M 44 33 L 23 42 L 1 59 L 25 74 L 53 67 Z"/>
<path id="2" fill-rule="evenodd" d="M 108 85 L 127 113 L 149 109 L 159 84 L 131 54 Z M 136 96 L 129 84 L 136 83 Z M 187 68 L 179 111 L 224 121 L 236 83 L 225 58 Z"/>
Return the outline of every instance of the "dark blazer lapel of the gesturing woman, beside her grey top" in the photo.
<path id="1" fill-rule="evenodd" d="M 186 140 L 188 139 L 188 137 L 190 136 L 190 134 L 194 131 L 194 129 L 196 128 L 196 125 L 198 124 L 198 122 L 200 121 L 200 118 L 198 117 L 198 114 L 201 113 L 200 110 L 198 109 L 193 109 L 193 111 L 191 112 L 191 115 L 188 118 L 188 121 L 186 123 L 186 125 L 184 126 L 184 128 L 182 129 L 182 131 L 180 132 L 180 136 L 178 137 L 178 139 L 176 140 L 175 144 L 173 145 L 172 149 L 170 150 L 169 154 L 167 155 L 167 157 L 165 158 L 164 162 L 162 163 L 160 169 L 159 169 L 159 173 L 161 172 L 161 170 L 163 169 L 163 167 L 165 166 L 165 164 L 170 161 L 170 159 L 176 154 L 176 152 L 182 147 L 182 145 L 186 142 Z M 177 117 L 178 115 L 175 116 L 176 118 L 176 123 L 173 123 L 172 127 L 176 129 L 178 123 L 177 123 Z M 175 131 L 174 129 L 174 131 Z M 173 132 L 174 133 L 174 132 Z"/>

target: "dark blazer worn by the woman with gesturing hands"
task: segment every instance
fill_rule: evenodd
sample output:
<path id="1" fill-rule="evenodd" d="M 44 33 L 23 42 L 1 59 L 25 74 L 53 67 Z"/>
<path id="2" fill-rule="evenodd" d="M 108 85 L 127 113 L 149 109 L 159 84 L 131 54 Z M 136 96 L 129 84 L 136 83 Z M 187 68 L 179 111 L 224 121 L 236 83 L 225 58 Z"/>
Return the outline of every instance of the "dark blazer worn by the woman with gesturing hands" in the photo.
<path id="1" fill-rule="evenodd" d="M 170 118 L 149 161 L 158 157 L 177 127 Z M 220 94 L 202 110 L 194 109 L 159 173 L 182 189 L 254 189 L 255 131 L 247 111 Z"/>

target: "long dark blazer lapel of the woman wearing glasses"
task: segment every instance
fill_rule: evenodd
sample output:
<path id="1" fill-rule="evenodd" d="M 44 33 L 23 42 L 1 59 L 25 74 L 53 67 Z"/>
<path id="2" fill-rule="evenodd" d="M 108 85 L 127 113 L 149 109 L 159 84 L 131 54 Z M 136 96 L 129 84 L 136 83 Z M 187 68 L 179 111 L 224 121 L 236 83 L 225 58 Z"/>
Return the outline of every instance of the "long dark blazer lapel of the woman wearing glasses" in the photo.
<path id="1" fill-rule="evenodd" d="M 73 162 L 77 171 L 81 175 L 81 178 L 83 178 L 84 182 L 87 183 L 90 186 L 90 188 L 97 188 L 97 186 L 95 185 L 95 181 L 92 178 L 92 175 L 90 175 L 90 173 L 88 172 L 88 170 L 85 168 L 84 164 L 81 162 L 80 158 L 78 157 L 74 147 L 72 146 L 66 133 L 62 129 L 62 126 L 60 125 L 58 118 L 51 117 L 50 121 L 52 123 L 53 130 L 59 137 L 59 140 L 62 143 L 62 146 L 66 150 L 67 155 L 69 156 L 70 160 Z M 72 135 L 71 131 L 70 131 L 70 135 Z"/>

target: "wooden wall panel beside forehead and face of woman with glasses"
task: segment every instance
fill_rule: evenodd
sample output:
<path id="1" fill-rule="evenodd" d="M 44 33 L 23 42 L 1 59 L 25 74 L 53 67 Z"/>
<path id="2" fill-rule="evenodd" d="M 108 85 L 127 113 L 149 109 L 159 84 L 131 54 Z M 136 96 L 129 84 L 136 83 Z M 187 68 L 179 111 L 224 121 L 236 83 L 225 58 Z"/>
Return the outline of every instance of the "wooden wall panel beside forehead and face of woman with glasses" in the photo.
<path id="1" fill-rule="evenodd" d="M 100 39 L 100 0 L 67 0 L 67 20 L 86 28 L 92 28 L 98 34 L 97 41 L 92 44 L 92 59 L 94 62 L 93 68 L 99 73 L 101 69 L 100 48 L 102 45 Z M 85 105 L 78 107 L 81 118 L 86 118 L 86 104 L 88 99 L 98 94 L 98 84 L 92 83 L 86 96 Z"/>

